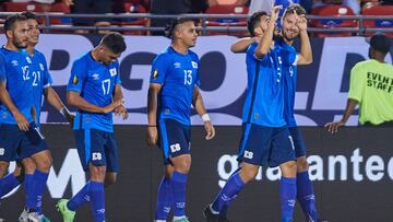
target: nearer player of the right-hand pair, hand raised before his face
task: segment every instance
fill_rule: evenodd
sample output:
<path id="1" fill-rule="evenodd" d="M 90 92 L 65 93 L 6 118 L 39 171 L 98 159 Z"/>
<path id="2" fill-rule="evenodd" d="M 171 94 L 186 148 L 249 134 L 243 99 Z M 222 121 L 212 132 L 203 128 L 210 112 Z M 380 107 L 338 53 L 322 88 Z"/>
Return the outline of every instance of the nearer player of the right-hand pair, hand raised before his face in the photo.
<path id="1" fill-rule="evenodd" d="M 241 167 L 227 180 L 212 205 L 204 210 L 207 222 L 228 221 L 222 211 L 253 180 L 262 165 L 279 166 L 282 221 L 293 221 L 296 198 L 296 157 L 284 114 L 284 77 L 282 55 L 273 45 L 275 22 L 281 5 L 272 7 L 267 28 L 266 16 L 255 13 L 249 19 L 251 36 L 263 35 L 247 50 L 248 91 L 243 106 L 243 136 L 238 160 Z"/>

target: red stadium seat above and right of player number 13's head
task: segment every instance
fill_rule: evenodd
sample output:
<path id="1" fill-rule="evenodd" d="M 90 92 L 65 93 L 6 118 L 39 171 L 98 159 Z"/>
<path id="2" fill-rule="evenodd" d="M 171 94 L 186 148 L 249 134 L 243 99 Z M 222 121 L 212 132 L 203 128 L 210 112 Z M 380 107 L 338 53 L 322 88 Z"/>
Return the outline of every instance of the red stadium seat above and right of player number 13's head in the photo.
<path id="1" fill-rule="evenodd" d="M 206 14 L 248 14 L 248 8 L 245 5 L 213 5 L 206 10 Z M 210 19 L 206 21 L 209 26 L 247 26 L 247 19 Z M 247 32 L 209 32 L 210 35 L 247 35 Z"/>

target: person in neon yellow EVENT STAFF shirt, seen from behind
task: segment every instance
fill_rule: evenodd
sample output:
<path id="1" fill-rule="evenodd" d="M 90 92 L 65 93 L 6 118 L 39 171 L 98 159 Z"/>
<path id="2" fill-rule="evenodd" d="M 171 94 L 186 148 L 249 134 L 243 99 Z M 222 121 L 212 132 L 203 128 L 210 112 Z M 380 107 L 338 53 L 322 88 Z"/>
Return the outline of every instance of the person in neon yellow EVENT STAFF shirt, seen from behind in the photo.
<path id="1" fill-rule="evenodd" d="M 345 126 L 356 105 L 359 105 L 359 122 L 362 126 L 393 126 L 393 66 L 385 61 L 392 43 L 382 33 L 374 34 L 369 42 L 370 59 L 356 63 L 350 70 L 343 118 L 325 125 L 332 133 Z"/>

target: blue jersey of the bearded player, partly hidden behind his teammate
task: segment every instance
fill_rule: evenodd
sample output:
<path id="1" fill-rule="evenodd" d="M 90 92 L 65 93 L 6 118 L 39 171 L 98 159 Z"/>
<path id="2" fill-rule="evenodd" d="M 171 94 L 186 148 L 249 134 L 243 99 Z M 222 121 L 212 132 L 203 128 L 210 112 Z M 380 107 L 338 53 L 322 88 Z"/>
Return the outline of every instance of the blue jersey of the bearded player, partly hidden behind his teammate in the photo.
<path id="1" fill-rule="evenodd" d="M 288 127 L 296 127 L 295 119 L 295 93 L 297 79 L 297 52 L 296 49 L 285 43 L 283 38 L 278 38 L 276 47 L 281 50 L 283 61 L 283 78 L 284 78 L 284 117 Z"/>

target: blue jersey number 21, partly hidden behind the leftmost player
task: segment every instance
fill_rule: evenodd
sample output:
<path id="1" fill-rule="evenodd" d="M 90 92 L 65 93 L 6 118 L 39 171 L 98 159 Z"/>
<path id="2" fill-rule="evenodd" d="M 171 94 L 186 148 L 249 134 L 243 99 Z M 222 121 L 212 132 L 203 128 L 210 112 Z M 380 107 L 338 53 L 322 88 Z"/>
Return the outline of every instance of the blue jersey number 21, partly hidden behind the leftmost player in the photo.
<path id="1" fill-rule="evenodd" d="M 51 77 L 48 71 L 48 66 L 44 54 L 34 50 L 34 55 L 31 56 L 32 66 L 29 71 L 33 78 L 33 98 L 34 107 L 37 115 L 37 125 L 39 125 L 40 109 L 43 105 L 44 89 L 49 87 L 52 83 Z"/>

